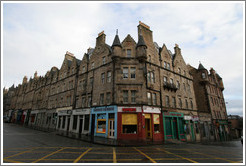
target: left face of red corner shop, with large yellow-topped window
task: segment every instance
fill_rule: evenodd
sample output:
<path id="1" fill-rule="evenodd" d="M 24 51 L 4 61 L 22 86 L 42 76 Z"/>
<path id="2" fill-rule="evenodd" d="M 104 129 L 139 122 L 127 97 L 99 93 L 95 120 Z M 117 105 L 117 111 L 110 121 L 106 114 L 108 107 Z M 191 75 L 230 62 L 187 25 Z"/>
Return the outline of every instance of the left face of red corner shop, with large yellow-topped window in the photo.
<path id="1" fill-rule="evenodd" d="M 145 134 L 144 114 L 142 107 L 118 107 L 118 140 L 145 140 L 146 137 L 152 137 L 152 127 L 150 127 L 150 116 L 147 114 L 149 125 L 148 131 Z"/>

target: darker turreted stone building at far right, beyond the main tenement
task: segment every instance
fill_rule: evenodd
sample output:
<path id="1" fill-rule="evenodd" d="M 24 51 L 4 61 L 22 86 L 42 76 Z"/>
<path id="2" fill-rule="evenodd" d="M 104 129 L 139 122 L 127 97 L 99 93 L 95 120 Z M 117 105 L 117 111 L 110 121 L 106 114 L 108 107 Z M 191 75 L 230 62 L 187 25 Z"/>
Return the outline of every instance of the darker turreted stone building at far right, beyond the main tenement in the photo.
<path id="1" fill-rule="evenodd" d="M 194 77 L 194 90 L 198 106 L 202 139 L 228 139 L 228 120 L 223 96 L 222 78 L 213 68 L 208 70 L 200 63 L 198 69 L 190 66 Z"/>

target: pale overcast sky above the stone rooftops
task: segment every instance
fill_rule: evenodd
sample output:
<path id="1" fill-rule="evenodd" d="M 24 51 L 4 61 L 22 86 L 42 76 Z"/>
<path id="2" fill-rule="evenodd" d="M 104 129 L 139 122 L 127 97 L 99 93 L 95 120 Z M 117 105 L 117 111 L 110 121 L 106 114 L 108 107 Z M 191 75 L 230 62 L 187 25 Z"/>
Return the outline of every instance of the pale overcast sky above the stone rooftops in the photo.
<path id="1" fill-rule="evenodd" d="M 159 46 L 174 52 L 177 43 L 186 63 L 213 67 L 224 81 L 228 114 L 243 115 L 244 8 L 228 2 L 4 3 L 3 86 L 60 68 L 66 51 L 82 59 L 103 30 L 109 45 L 116 29 L 121 41 L 127 34 L 137 41 L 142 21 Z"/>

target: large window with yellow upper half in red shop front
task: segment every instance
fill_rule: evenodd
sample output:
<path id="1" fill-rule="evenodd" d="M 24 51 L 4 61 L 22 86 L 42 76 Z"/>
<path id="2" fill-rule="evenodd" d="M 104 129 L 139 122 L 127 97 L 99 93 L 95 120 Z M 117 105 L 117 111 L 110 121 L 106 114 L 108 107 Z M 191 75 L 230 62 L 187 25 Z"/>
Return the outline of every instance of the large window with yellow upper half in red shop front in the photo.
<path id="1" fill-rule="evenodd" d="M 122 114 L 122 133 L 137 134 L 137 114 Z"/>

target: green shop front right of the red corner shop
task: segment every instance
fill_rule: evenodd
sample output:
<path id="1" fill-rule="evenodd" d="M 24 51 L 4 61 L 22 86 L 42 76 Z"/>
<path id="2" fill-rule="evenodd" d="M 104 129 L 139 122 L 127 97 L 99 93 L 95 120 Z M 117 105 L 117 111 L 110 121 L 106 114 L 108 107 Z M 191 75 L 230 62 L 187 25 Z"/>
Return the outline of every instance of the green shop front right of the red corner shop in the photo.
<path id="1" fill-rule="evenodd" d="M 184 131 L 184 114 L 178 112 L 163 112 L 164 139 L 186 141 Z"/>

